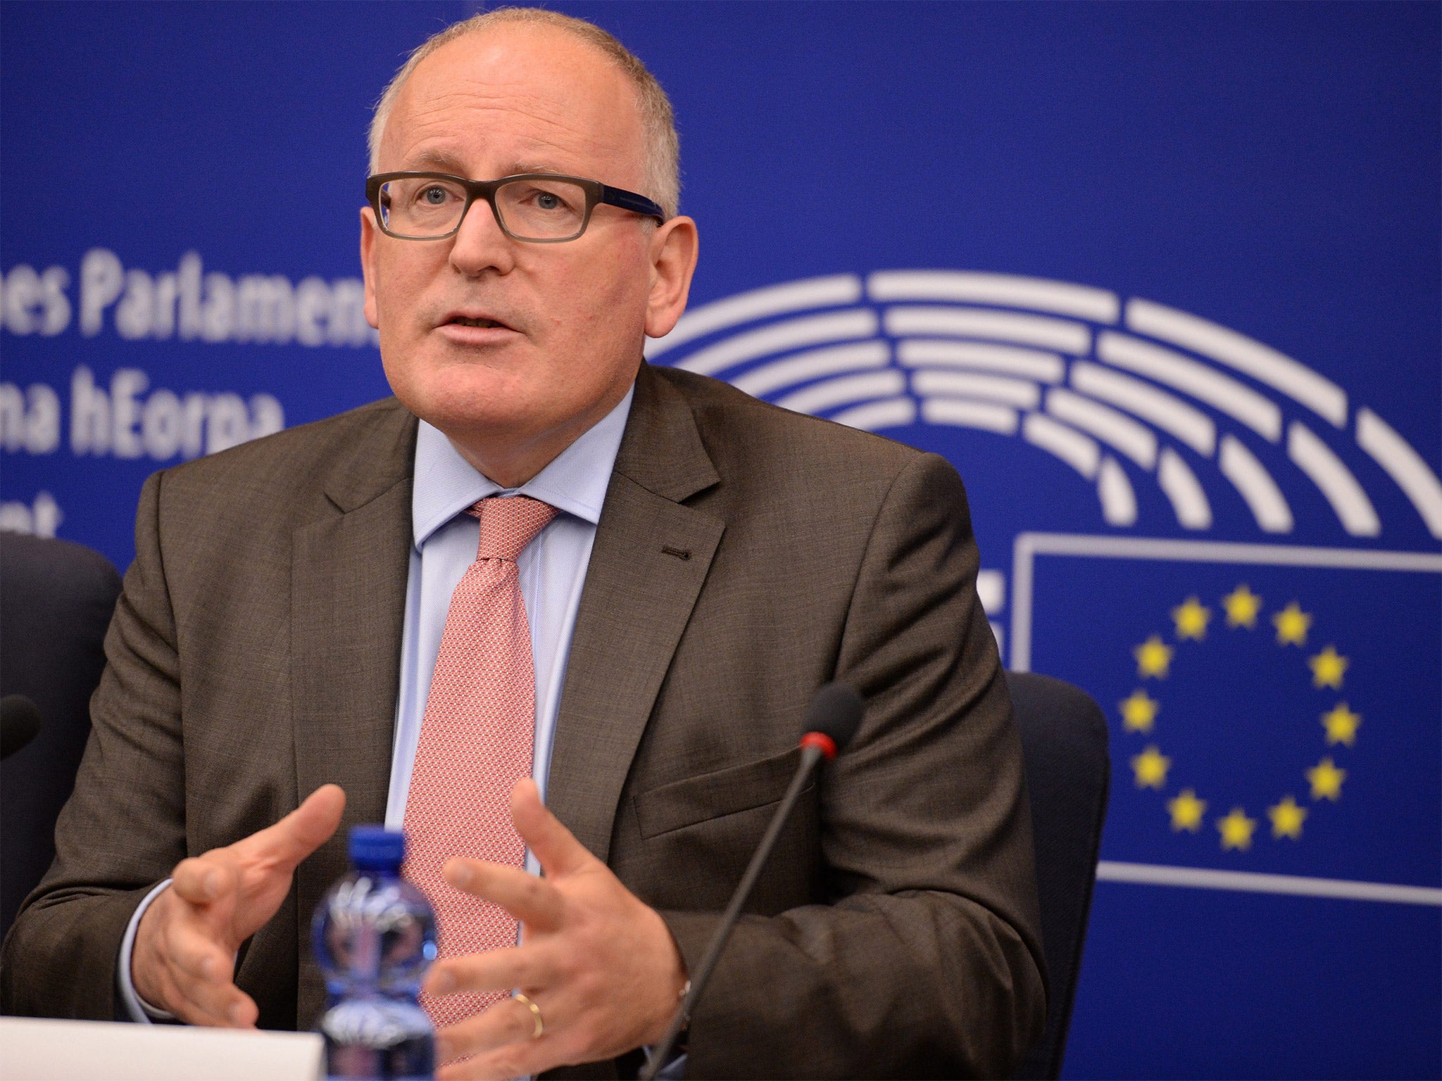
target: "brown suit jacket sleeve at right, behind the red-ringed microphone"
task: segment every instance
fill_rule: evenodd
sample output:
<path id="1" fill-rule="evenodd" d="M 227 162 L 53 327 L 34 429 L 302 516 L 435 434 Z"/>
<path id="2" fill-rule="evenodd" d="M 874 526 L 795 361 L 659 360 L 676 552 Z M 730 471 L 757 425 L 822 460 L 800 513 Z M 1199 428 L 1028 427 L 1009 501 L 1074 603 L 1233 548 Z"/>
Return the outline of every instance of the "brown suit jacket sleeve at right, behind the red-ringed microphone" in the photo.
<path id="1" fill-rule="evenodd" d="M 835 677 L 867 702 L 822 783 L 831 904 L 747 915 L 688 1078 L 996 1077 L 1045 992 L 1021 742 L 956 471 L 910 460 L 877 515 Z M 718 917 L 663 912 L 688 967 Z M 764 1056 L 764 1058 L 763 1058 Z"/>

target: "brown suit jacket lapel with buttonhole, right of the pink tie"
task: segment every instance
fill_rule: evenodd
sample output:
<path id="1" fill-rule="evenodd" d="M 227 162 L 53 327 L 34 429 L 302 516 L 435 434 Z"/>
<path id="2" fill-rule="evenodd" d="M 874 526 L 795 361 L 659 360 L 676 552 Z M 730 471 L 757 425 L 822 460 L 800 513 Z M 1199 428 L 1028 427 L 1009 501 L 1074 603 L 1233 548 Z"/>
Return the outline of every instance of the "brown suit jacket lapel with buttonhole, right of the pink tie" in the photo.
<path id="1" fill-rule="evenodd" d="M 720 480 L 685 399 L 642 366 L 575 617 L 547 803 L 610 853 L 626 774 L 724 532 L 681 500 Z"/>

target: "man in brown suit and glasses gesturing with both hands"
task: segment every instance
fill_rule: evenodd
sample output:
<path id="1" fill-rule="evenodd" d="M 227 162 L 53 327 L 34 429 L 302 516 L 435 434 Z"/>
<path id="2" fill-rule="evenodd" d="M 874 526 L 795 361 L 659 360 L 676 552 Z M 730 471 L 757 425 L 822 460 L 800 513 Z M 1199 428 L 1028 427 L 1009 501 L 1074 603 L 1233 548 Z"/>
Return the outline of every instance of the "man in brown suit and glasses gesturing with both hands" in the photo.
<path id="1" fill-rule="evenodd" d="M 309 915 L 345 869 L 337 826 L 405 810 L 435 666 L 414 643 L 444 615 L 425 595 L 433 473 L 541 499 L 600 461 L 598 519 L 583 497 L 547 526 L 575 519 L 584 588 L 557 600 L 564 538 L 521 569 L 536 643 L 559 613 L 535 654 L 557 675 L 534 673 L 545 803 L 529 780 L 510 800 L 545 876 L 451 859 L 448 886 L 523 931 L 427 983 L 522 996 L 446 1028 L 460 1061 L 440 1075 L 634 1068 L 832 679 L 864 696 L 862 728 L 782 833 L 675 1065 L 1007 1072 L 1041 1029 L 1041 946 L 956 473 L 645 365 L 643 336 L 685 308 L 696 231 L 675 213 L 669 105 L 609 35 L 526 10 L 451 27 L 397 76 L 372 138 L 392 179 L 362 212 L 366 311 L 397 398 L 147 481 L 56 862 L 6 941 L 4 1006 L 314 1023 Z M 518 195 L 518 176 L 541 180 Z M 578 177 L 571 226 L 554 225 L 555 176 Z M 437 536 L 467 528 L 443 517 Z"/>

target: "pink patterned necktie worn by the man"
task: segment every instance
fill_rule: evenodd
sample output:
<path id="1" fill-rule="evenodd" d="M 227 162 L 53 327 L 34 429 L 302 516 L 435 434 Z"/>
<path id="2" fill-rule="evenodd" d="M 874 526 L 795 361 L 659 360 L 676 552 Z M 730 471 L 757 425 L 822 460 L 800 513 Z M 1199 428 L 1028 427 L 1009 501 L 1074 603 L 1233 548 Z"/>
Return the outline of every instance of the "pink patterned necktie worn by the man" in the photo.
<path id="1" fill-rule="evenodd" d="M 480 546 L 451 594 L 405 800 L 404 875 L 435 908 L 441 957 L 516 944 L 516 921 L 447 885 L 441 865 L 453 856 L 516 868 L 525 860 L 510 790 L 531 775 L 536 690 L 516 556 L 558 512 L 510 496 L 466 513 L 480 519 Z M 444 1028 L 502 997 L 423 995 L 421 1005 Z"/>

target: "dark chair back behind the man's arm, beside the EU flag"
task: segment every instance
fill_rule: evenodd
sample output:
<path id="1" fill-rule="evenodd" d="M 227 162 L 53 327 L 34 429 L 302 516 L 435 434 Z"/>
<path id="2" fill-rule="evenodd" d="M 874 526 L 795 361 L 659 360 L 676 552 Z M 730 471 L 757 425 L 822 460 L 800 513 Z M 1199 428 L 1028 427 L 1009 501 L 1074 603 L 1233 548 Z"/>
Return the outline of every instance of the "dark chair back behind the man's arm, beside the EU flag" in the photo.
<path id="1" fill-rule="evenodd" d="M 1050 984 L 1045 1035 L 1012 1077 L 1056 1078 L 1082 971 L 1112 758 L 1106 718 L 1086 692 L 1022 672 L 1008 672 L 1007 683 L 1027 761 Z"/>

